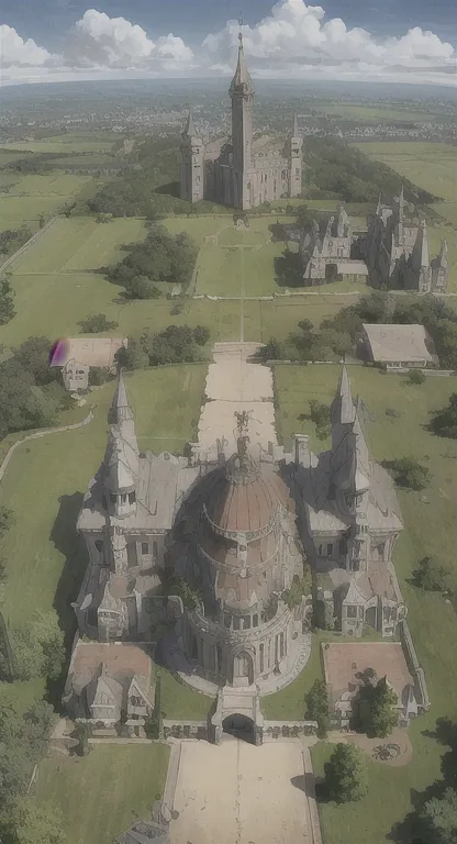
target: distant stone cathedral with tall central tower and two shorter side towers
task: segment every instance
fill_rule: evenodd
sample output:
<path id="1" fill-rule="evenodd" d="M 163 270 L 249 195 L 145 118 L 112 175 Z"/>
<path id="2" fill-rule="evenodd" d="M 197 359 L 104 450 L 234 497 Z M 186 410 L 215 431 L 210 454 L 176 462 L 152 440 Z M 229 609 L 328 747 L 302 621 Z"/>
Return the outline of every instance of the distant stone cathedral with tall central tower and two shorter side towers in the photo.
<path id="1" fill-rule="evenodd" d="M 246 66 L 242 34 L 238 37 L 238 62 L 228 90 L 232 138 L 205 144 L 189 112 L 181 135 L 180 195 L 190 202 L 208 199 L 248 210 L 280 197 L 300 196 L 303 142 L 294 118 L 283 149 L 256 152 L 257 144 L 253 142 L 255 88 Z"/>

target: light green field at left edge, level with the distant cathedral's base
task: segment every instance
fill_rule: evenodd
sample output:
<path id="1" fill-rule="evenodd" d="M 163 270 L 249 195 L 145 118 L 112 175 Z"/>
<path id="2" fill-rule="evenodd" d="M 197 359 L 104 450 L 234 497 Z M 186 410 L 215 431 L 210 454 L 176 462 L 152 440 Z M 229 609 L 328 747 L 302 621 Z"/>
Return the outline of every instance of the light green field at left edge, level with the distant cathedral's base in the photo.
<path id="1" fill-rule="evenodd" d="M 69 176 L 59 171 L 35 176 L 1 174 L 14 177 L 8 193 L 0 193 L 0 219 L 4 229 L 36 222 L 41 214 L 52 216 L 71 202 L 91 181 L 90 176 Z M 53 244 L 53 247 L 55 244 Z"/>

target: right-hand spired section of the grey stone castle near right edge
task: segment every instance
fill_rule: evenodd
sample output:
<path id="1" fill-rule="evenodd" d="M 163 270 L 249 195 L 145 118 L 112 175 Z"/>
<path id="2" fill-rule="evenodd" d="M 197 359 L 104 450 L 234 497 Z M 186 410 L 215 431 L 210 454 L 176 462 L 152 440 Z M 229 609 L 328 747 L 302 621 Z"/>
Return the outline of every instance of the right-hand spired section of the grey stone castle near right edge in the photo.
<path id="1" fill-rule="evenodd" d="M 426 222 L 408 216 L 406 206 L 402 188 L 392 207 L 379 198 L 375 213 L 367 220 L 361 249 L 370 285 L 420 293 L 445 292 L 449 274 L 446 241 L 442 241 L 439 255 L 431 260 Z"/>

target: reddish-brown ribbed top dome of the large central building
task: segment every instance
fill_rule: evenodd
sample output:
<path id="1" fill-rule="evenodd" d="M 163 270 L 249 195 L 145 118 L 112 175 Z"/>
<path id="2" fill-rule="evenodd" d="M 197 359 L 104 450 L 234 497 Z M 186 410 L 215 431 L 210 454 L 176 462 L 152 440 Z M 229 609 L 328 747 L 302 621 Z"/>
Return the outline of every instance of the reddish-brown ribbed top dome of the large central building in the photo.
<path id="1" fill-rule="evenodd" d="M 220 473 L 205 502 L 213 524 L 233 533 L 260 531 L 274 520 L 279 506 L 293 509 L 286 484 L 274 466 L 260 464 L 246 471 L 237 457 Z"/>

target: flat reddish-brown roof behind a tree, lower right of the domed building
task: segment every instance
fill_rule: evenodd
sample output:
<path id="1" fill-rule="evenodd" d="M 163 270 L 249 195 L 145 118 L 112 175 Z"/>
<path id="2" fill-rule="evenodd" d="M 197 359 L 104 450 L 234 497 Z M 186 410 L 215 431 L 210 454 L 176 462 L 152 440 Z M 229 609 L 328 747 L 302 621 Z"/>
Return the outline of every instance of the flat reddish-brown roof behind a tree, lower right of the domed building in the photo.
<path id="1" fill-rule="evenodd" d="M 399 700 L 405 686 L 414 686 L 400 642 L 327 642 L 322 644 L 325 677 L 332 686 L 332 697 L 339 697 L 359 680 L 356 675 L 372 668 L 377 676 L 387 677 Z"/>

